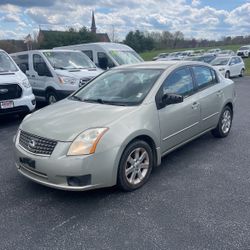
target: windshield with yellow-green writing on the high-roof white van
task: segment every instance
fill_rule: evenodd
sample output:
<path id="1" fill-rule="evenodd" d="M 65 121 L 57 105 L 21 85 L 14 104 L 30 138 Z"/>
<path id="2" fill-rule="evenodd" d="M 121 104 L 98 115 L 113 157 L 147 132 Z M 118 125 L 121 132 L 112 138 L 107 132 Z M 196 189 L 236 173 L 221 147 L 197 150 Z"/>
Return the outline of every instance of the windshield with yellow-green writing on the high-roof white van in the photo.
<path id="1" fill-rule="evenodd" d="M 134 51 L 110 50 L 109 54 L 119 65 L 133 64 L 143 61 Z"/>

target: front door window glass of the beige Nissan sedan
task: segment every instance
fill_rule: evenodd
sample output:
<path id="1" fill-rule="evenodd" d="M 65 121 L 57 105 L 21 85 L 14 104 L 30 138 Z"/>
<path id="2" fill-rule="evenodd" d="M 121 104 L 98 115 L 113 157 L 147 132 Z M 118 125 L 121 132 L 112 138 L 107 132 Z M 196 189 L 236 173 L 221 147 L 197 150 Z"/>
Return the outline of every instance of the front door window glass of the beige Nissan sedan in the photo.
<path id="1" fill-rule="evenodd" d="M 188 68 L 174 71 L 163 83 L 163 94 L 190 95 L 193 92 L 193 79 Z"/>

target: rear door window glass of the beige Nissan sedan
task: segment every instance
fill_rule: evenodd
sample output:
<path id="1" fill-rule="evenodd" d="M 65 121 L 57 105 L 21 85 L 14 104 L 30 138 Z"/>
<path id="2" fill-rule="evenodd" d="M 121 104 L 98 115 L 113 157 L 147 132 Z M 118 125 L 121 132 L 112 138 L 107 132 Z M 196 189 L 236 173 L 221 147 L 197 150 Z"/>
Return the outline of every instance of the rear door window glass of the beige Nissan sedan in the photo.
<path id="1" fill-rule="evenodd" d="M 192 68 L 199 89 L 209 87 L 216 83 L 210 68 L 204 66 L 194 66 Z"/>

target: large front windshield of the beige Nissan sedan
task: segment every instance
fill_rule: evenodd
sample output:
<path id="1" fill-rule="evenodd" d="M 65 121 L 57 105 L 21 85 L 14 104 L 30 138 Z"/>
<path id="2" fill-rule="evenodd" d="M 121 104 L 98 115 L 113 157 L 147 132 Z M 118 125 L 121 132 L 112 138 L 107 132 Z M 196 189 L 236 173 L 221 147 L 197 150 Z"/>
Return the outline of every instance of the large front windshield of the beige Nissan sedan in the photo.
<path id="1" fill-rule="evenodd" d="M 133 106 L 140 104 L 162 69 L 114 69 L 105 72 L 70 97 L 77 101 Z"/>

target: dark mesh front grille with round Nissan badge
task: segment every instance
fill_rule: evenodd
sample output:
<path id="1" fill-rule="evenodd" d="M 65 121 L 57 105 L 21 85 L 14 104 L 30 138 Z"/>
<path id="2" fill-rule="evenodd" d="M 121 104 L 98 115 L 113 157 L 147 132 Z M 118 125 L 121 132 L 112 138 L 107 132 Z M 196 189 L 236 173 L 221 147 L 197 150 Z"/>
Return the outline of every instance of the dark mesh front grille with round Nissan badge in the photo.
<path id="1" fill-rule="evenodd" d="M 57 142 L 20 131 L 19 144 L 33 154 L 49 156 L 52 154 Z"/>

